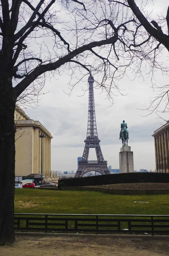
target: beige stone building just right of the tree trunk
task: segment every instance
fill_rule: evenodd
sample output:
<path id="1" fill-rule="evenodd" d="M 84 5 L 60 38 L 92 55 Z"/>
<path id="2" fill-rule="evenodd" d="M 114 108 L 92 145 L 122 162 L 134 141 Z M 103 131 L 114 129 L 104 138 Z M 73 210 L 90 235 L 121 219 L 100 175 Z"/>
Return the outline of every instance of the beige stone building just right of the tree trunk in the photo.
<path id="1" fill-rule="evenodd" d="M 41 173 L 41 143 L 43 140 L 43 176 L 51 172 L 50 132 L 39 122 L 34 121 L 18 106 L 15 109 L 15 177 Z M 41 139 L 40 134 L 45 137 Z"/>

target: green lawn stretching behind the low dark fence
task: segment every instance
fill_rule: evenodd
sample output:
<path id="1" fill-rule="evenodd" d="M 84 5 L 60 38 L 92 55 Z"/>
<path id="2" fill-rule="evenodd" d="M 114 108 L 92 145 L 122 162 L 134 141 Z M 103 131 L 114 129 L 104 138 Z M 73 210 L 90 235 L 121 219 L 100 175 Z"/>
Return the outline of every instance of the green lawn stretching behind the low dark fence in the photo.
<path id="1" fill-rule="evenodd" d="M 15 213 L 168 215 L 169 195 L 111 195 L 93 191 L 15 189 Z"/>

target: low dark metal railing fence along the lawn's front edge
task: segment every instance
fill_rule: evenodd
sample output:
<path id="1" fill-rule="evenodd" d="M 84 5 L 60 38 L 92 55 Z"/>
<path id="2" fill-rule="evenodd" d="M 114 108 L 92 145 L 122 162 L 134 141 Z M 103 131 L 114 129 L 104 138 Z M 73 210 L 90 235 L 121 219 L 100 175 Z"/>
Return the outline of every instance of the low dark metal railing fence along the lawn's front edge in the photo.
<path id="1" fill-rule="evenodd" d="M 17 231 L 169 235 L 169 215 L 14 214 Z"/>

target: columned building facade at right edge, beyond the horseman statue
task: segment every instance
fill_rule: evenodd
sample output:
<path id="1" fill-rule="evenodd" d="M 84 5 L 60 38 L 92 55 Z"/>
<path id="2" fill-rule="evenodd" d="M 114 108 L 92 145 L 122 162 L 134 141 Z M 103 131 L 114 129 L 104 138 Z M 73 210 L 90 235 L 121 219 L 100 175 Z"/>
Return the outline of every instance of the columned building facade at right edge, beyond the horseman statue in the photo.
<path id="1" fill-rule="evenodd" d="M 169 121 L 158 128 L 152 136 L 155 139 L 156 172 L 167 172 L 169 169 Z"/>

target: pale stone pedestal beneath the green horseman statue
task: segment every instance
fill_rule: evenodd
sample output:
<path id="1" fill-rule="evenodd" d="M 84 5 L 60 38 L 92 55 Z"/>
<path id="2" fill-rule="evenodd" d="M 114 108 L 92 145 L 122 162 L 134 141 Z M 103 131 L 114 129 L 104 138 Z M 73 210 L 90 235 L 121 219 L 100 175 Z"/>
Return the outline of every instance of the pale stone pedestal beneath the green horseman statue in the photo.
<path id="1" fill-rule="evenodd" d="M 123 146 L 119 153 L 120 173 L 134 172 L 133 151 L 131 147 Z"/>

